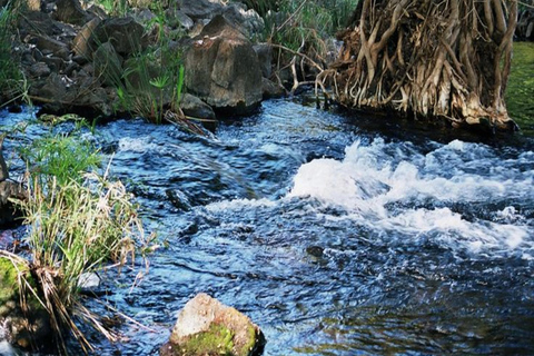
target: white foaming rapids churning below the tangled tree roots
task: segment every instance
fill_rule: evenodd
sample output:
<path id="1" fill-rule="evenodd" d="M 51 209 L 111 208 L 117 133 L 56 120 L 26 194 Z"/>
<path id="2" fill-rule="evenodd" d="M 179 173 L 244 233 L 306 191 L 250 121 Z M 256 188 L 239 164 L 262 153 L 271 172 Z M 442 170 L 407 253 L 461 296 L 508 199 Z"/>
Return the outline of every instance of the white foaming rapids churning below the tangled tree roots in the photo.
<path id="1" fill-rule="evenodd" d="M 533 228 L 512 206 L 534 204 L 532 155 L 504 160 L 490 147 L 462 141 L 422 155 L 409 144 L 383 139 L 356 141 L 345 151 L 342 161 L 303 165 L 288 196 L 342 207 L 356 224 L 386 235 L 433 238 L 475 253 L 520 250 L 532 258 Z M 455 211 L 458 205 L 478 210 L 466 217 Z"/>

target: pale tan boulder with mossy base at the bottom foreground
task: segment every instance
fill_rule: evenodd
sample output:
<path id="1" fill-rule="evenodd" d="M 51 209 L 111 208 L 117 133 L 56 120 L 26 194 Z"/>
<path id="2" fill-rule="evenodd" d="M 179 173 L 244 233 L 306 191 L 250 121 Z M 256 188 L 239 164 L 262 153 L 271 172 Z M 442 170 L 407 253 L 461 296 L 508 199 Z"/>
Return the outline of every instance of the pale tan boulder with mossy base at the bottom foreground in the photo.
<path id="1" fill-rule="evenodd" d="M 161 356 L 260 355 L 265 338 L 244 314 L 207 294 L 198 294 L 181 309 Z"/>

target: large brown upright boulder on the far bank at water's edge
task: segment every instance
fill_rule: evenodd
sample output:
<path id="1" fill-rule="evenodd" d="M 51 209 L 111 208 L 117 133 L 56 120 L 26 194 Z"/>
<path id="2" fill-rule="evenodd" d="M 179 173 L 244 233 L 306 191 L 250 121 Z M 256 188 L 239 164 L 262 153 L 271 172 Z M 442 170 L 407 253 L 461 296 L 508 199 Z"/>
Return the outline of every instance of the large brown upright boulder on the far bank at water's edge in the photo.
<path id="1" fill-rule="evenodd" d="M 216 110 L 253 112 L 261 101 L 261 69 L 250 41 L 215 17 L 186 53 L 186 87 Z"/>

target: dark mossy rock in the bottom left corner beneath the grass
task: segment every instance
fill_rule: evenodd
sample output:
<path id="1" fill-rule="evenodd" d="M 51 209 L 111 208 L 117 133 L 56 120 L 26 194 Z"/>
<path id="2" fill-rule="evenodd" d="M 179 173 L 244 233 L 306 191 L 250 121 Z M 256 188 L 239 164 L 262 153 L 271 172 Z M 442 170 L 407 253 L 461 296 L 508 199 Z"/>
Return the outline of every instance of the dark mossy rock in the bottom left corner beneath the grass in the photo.
<path id="1" fill-rule="evenodd" d="M 26 313 L 20 300 L 19 277 L 26 278 L 34 288 L 28 266 L 0 257 L 0 325 L 8 343 L 22 348 L 48 346 L 50 318 L 40 301 L 29 290 L 24 293 Z"/>

